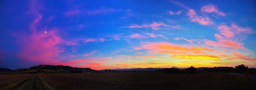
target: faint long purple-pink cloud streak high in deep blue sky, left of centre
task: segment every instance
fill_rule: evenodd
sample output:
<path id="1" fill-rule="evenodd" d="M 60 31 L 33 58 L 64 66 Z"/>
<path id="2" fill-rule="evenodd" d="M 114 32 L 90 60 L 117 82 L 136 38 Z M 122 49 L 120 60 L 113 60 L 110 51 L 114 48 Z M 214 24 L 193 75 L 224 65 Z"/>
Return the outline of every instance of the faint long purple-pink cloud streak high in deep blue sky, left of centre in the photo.
<path id="1" fill-rule="evenodd" d="M 108 13 L 113 13 L 118 11 L 121 11 L 121 9 L 99 8 L 97 10 L 69 10 L 65 12 L 65 16 L 72 16 L 77 14 L 85 14 L 85 15 L 108 14 Z"/>

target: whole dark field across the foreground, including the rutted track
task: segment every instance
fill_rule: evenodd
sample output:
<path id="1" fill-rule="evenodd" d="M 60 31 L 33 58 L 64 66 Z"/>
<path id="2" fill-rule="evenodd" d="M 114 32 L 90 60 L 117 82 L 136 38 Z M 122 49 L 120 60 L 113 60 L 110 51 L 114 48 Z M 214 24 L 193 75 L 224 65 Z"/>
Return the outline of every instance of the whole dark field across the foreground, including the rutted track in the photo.
<path id="1" fill-rule="evenodd" d="M 232 74 L 56 73 L 0 74 L 0 90 L 214 89 L 256 90 L 256 80 Z"/>

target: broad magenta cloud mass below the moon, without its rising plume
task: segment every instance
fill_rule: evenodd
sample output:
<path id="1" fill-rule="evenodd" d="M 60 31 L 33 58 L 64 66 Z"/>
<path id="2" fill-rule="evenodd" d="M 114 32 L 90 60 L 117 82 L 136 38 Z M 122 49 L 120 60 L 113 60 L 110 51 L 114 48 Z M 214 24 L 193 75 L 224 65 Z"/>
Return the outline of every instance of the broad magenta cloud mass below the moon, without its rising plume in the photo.
<path id="1" fill-rule="evenodd" d="M 23 44 L 20 45 L 20 57 L 29 61 L 39 61 L 42 63 L 57 61 L 55 58 L 59 56 L 60 52 L 63 52 L 58 47 L 58 44 L 64 41 L 56 33 L 57 31 L 52 29 L 47 33 L 23 36 Z"/>

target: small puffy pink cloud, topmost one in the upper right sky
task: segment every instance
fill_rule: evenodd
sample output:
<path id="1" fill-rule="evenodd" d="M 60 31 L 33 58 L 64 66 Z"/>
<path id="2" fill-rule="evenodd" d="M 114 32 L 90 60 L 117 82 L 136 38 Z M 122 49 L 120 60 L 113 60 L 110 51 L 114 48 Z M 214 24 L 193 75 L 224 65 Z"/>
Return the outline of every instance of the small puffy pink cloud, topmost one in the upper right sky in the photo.
<path id="1" fill-rule="evenodd" d="M 219 11 L 217 6 L 214 6 L 214 5 L 211 5 L 211 4 L 202 6 L 201 11 L 206 12 L 206 13 L 216 13 L 220 16 L 225 16 L 226 15 L 224 12 Z"/>

